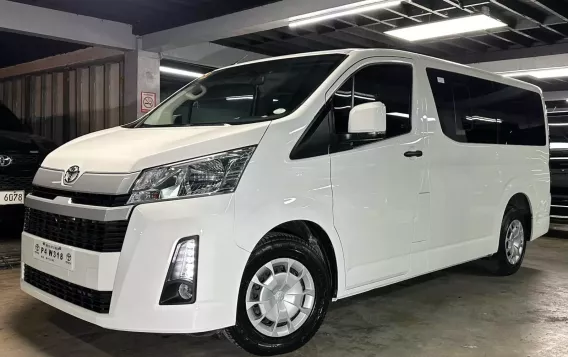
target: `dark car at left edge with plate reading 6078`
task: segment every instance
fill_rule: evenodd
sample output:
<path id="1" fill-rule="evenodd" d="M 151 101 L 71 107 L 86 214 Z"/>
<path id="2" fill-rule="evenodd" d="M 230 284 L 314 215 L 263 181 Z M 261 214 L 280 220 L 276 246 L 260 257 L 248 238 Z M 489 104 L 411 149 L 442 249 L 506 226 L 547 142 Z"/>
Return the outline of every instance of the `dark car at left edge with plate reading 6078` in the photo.
<path id="1" fill-rule="evenodd" d="M 57 145 L 30 133 L 0 102 L 0 231 L 21 230 L 24 197 L 43 159 Z"/>

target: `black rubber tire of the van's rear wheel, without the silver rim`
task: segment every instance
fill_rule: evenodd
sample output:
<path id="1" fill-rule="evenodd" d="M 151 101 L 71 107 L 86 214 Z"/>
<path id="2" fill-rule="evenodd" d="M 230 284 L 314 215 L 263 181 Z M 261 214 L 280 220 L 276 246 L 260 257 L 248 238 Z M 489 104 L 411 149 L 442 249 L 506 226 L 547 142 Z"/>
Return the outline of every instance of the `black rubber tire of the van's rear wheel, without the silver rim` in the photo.
<path id="1" fill-rule="evenodd" d="M 527 251 L 527 243 L 530 238 L 530 230 L 528 225 L 528 220 L 530 219 L 530 215 L 522 209 L 519 209 L 514 206 L 508 206 L 507 210 L 505 211 L 505 215 L 503 216 L 503 221 L 501 222 L 501 235 L 499 238 L 499 250 L 496 254 L 493 255 L 493 273 L 498 276 L 509 276 L 515 274 L 523 264 L 523 260 L 525 258 L 525 253 Z M 511 222 L 518 220 L 521 222 L 523 231 L 524 231 L 524 246 L 523 251 L 521 254 L 521 258 L 516 264 L 511 264 L 507 259 L 507 252 L 505 247 L 505 240 L 507 235 L 507 229 Z"/>

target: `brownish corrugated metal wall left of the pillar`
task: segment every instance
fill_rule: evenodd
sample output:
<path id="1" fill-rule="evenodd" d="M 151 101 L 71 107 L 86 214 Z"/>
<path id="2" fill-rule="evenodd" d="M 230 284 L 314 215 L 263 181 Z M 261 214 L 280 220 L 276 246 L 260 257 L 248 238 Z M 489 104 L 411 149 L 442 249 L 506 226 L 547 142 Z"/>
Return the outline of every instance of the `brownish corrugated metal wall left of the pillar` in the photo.
<path id="1" fill-rule="evenodd" d="M 0 101 L 57 144 L 124 124 L 124 62 L 0 80 Z"/>

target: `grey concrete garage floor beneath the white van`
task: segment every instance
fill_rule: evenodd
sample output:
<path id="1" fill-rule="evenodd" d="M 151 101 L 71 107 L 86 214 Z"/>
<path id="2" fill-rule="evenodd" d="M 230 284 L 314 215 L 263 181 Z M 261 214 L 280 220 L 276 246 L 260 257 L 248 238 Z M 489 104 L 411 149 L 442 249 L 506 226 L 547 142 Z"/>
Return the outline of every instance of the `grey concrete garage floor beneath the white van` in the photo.
<path id="1" fill-rule="evenodd" d="M 103 330 L 26 296 L 0 271 L 2 357 L 246 356 L 225 339 Z M 183 318 L 183 316 L 180 316 Z M 523 268 L 468 264 L 331 305 L 292 356 L 568 356 L 568 239 L 531 243 Z"/>

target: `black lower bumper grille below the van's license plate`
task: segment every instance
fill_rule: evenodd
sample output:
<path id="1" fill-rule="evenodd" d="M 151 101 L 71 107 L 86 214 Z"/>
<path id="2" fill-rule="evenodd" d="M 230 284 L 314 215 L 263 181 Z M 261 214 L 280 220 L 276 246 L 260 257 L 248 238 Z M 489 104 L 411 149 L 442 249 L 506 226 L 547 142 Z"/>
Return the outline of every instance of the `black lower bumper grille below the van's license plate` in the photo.
<path id="1" fill-rule="evenodd" d="M 97 291 L 69 283 L 28 265 L 24 266 L 24 281 L 46 293 L 99 314 L 108 314 L 112 291 Z"/>

